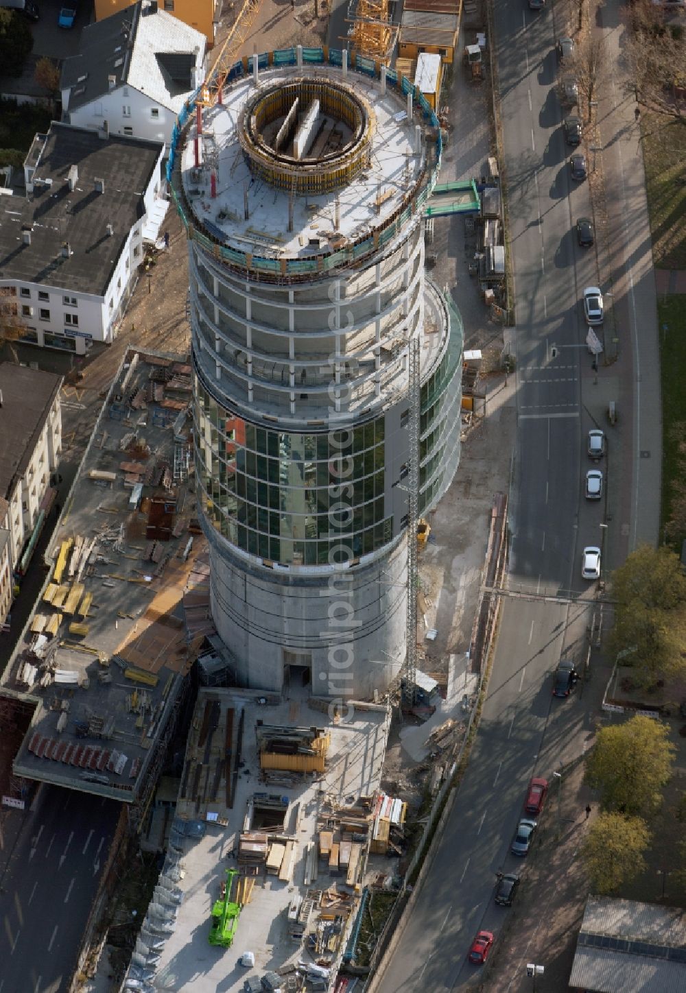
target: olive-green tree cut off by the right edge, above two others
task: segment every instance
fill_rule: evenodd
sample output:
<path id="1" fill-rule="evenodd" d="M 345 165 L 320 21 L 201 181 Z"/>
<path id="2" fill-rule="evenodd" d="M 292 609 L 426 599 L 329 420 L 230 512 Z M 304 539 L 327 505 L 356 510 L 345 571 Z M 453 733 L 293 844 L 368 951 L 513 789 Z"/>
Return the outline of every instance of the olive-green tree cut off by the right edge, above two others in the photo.
<path id="1" fill-rule="evenodd" d="M 679 556 L 666 545 L 641 545 L 613 573 L 617 601 L 609 647 L 635 645 L 634 679 L 649 687 L 662 677 L 686 674 L 686 577 Z"/>

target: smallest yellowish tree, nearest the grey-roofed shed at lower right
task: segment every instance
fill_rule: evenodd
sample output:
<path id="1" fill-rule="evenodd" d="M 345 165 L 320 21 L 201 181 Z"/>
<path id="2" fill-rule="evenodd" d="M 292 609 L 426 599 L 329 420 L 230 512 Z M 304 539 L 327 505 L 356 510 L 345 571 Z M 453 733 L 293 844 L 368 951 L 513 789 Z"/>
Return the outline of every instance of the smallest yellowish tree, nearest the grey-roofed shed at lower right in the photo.
<path id="1" fill-rule="evenodd" d="M 581 846 L 593 891 L 601 896 L 615 893 L 643 872 L 643 852 L 649 844 L 650 832 L 641 817 L 599 814 Z"/>

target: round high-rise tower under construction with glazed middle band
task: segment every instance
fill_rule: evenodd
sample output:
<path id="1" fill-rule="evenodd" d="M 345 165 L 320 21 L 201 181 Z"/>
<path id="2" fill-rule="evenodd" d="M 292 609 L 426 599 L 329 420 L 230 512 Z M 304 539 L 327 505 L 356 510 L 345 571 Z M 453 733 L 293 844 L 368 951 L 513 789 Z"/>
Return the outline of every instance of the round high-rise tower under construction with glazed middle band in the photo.
<path id="1" fill-rule="evenodd" d="M 410 344 L 426 511 L 459 459 L 462 328 L 424 270 L 436 118 L 390 71 L 311 58 L 235 67 L 170 177 L 214 623 L 241 683 L 363 698 L 406 650 Z"/>

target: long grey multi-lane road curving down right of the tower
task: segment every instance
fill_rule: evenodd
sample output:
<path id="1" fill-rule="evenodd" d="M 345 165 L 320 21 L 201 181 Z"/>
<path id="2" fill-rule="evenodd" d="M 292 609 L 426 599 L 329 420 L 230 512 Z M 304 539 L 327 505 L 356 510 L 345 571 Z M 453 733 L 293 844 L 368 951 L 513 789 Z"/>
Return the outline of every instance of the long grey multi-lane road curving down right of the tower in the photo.
<path id="1" fill-rule="evenodd" d="M 569 171 L 563 110 L 556 94 L 554 11 L 496 0 L 497 60 L 510 235 L 516 282 L 517 448 L 511 506 L 509 585 L 535 596 L 503 604 L 479 734 L 444 837 L 392 960 L 383 993 L 478 986 L 467 961 L 480 928 L 496 935 L 507 911 L 495 907 L 497 871 L 525 873 L 509 853 L 531 776 L 554 782 L 579 751 L 579 696 L 553 701 L 552 672 L 565 651 L 579 658 L 592 585 L 581 579 L 585 544 L 602 545 L 604 501 L 587 503 L 583 403 L 593 375 L 581 305 L 597 285 L 595 250 L 577 244 L 575 224 L 591 213 L 586 183 Z M 543 595 L 572 593 L 573 602 Z M 576 740 L 575 740 L 576 739 Z M 554 811 L 554 805 L 553 805 Z M 554 812 L 548 810 L 548 816 Z"/>

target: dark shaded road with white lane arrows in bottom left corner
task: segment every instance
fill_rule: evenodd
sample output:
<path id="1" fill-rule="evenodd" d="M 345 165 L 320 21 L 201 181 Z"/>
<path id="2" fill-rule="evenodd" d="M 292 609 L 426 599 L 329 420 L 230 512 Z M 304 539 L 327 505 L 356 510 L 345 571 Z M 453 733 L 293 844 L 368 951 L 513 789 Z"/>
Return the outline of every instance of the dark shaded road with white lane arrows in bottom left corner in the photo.
<path id="1" fill-rule="evenodd" d="M 44 786 L 5 821 L 0 993 L 67 989 L 118 815 L 111 800 Z"/>

